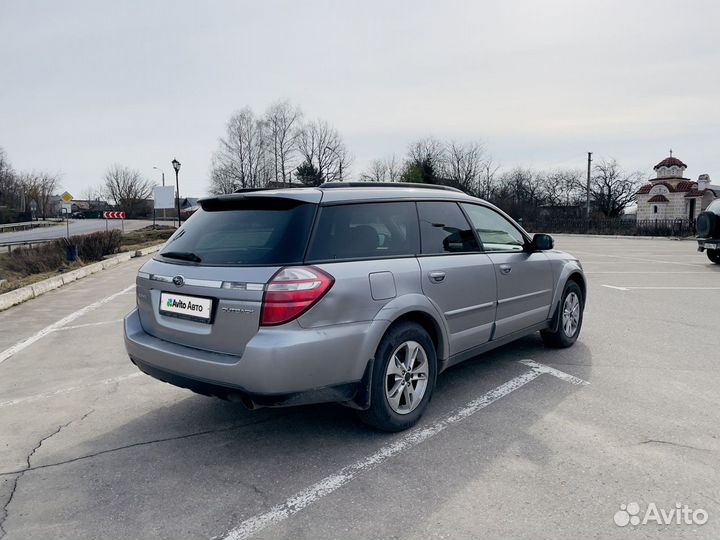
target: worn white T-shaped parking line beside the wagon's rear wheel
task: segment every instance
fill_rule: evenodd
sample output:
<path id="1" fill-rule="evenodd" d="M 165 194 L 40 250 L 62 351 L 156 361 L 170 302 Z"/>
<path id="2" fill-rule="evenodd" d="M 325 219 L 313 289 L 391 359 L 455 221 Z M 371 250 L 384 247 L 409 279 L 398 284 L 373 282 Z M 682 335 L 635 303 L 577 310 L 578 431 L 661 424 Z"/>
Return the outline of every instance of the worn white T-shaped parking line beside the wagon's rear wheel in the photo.
<path id="1" fill-rule="evenodd" d="M 537 379 L 542 374 L 553 375 L 563 381 L 570 382 L 572 384 L 589 384 L 587 381 L 578 379 L 572 375 L 545 366 L 532 360 L 521 361 L 531 369 L 525 373 L 518 375 L 507 381 L 504 384 L 490 390 L 488 393 L 483 394 L 477 399 L 474 399 L 464 407 L 456 409 L 445 418 L 438 420 L 437 422 L 427 426 L 413 429 L 407 434 L 401 436 L 398 440 L 393 443 L 387 444 L 381 447 L 377 452 L 370 456 L 360 459 L 355 463 L 343 467 L 335 474 L 326 476 L 316 484 L 310 486 L 307 489 L 296 493 L 285 502 L 273 506 L 269 511 L 264 514 L 253 516 L 246 519 L 240 525 L 229 531 L 224 537 L 224 540 L 244 540 L 250 538 L 262 529 L 275 525 L 295 514 L 307 508 L 315 501 L 329 495 L 335 490 L 341 488 L 361 473 L 377 467 L 379 464 L 387 461 L 393 456 L 400 454 L 419 445 L 423 441 L 426 441 L 430 437 L 433 437 L 441 431 L 472 416 L 481 409 L 484 409 L 488 405 L 494 403 L 498 399 L 507 396 L 509 393 L 525 386 L 530 381 Z"/>

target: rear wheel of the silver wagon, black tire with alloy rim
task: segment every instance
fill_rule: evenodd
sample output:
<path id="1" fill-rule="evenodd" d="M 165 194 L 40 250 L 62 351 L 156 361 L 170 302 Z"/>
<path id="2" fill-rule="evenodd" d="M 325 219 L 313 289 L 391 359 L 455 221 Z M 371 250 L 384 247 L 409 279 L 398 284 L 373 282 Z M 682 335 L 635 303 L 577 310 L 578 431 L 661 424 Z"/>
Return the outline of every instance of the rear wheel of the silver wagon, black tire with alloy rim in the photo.
<path id="1" fill-rule="evenodd" d="M 437 355 L 428 333 L 416 323 L 396 324 L 378 345 L 370 382 L 370 408 L 358 411 L 358 416 L 382 431 L 408 429 L 427 409 L 436 378 Z"/>

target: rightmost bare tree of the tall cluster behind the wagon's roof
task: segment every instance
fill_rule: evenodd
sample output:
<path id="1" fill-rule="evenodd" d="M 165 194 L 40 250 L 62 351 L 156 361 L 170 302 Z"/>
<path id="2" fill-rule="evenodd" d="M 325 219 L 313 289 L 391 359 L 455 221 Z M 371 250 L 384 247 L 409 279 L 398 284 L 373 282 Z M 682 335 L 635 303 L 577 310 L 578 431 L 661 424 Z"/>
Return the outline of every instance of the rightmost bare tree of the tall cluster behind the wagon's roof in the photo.
<path id="1" fill-rule="evenodd" d="M 343 181 L 348 177 L 350 156 L 337 129 L 325 121 L 315 120 L 303 124 L 297 133 L 298 150 L 303 170 L 314 169 L 312 182 Z M 303 180 L 306 176 L 298 177 Z"/>

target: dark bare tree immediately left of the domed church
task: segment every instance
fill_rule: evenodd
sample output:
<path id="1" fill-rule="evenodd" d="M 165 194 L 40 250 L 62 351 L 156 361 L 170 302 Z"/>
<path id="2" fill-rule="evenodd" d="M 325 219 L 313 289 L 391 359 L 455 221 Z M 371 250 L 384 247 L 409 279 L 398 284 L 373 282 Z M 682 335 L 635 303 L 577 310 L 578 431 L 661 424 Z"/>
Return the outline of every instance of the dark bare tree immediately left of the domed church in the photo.
<path id="1" fill-rule="evenodd" d="M 607 217 L 619 216 L 635 199 L 642 175 L 625 172 L 615 159 L 602 160 L 593 167 L 590 197 L 598 212 Z"/>

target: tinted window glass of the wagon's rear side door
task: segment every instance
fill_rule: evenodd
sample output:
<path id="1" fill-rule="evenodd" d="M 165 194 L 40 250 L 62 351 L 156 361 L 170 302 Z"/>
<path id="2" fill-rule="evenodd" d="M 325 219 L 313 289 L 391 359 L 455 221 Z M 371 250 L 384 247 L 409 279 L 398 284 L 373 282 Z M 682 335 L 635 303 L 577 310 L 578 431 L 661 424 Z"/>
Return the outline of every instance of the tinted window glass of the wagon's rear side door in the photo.
<path id="1" fill-rule="evenodd" d="M 417 208 L 424 254 L 479 251 L 477 239 L 457 203 L 418 202 Z"/>

